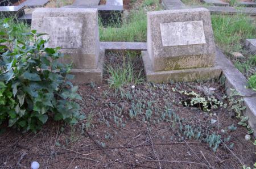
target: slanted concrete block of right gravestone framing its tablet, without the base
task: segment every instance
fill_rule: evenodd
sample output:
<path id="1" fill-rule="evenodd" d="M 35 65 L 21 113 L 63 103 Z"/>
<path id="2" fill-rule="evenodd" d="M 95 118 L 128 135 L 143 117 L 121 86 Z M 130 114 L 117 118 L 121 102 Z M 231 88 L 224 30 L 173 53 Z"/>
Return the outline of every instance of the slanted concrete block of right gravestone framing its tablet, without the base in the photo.
<path id="1" fill-rule="evenodd" d="M 203 22 L 205 44 L 163 46 L 162 37 L 170 35 L 161 32 L 160 24 L 191 21 Z M 177 31 L 177 36 L 183 33 L 183 31 L 175 28 L 168 31 Z M 196 33 L 193 33 L 193 35 L 196 35 Z M 168 38 L 170 41 L 173 40 L 172 37 Z M 204 8 L 148 12 L 147 50 L 154 71 L 213 66 L 215 44 L 210 12 Z"/>

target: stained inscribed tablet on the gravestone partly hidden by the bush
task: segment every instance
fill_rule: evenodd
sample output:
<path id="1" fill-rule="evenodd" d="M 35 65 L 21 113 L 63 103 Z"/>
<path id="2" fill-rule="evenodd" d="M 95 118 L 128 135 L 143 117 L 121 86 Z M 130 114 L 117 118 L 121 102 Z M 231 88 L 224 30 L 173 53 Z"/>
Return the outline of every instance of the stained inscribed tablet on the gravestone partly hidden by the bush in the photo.
<path id="1" fill-rule="evenodd" d="M 48 47 L 63 49 L 77 49 L 82 47 L 82 20 L 80 17 L 45 17 L 44 28 L 50 33 L 51 40 Z"/>

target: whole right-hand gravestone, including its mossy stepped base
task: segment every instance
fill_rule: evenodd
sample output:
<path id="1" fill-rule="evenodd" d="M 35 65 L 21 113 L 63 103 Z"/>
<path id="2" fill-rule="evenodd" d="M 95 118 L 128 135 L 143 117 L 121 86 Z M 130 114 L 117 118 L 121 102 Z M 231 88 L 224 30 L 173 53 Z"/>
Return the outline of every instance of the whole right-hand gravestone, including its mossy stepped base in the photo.
<path id="1" fill-rule="evenodd" d="M 174 80 L 192 81 L 196 76 L 189 78 L 185 75 L 183 78 L 185 73 L 175 70 L 188 72 L 189 69 L 213 67 L 215 51 L 210 12 L 207 9 L 147 13 L 147 53 L 143 52 L 147 77 L 166 71 L 163 72 L 164 78 L 171 79 L 175 75 Z M 199 74 L 198 79 L 204 78 L 202 75 Z"/>

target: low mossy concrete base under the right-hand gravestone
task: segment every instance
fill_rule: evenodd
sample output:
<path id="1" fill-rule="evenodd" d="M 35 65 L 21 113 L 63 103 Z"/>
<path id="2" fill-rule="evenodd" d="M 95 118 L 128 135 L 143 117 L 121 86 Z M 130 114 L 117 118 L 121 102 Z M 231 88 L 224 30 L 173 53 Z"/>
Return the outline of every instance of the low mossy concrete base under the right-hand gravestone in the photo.
<path id="1" fill-rule="evenodd" d="M 144 63 L 144 70 L 148 82 L 167 83 L 174 82 L 191 82 L 198 79 L 218 79 L 221 75 L 221 69 L 218 66 L 203 67 L 197 69 L 183 69 L 183 70 L 168 70 L 168 71 L 154 71 L 150 60 L 148 59 L 147 51 L 142 51 L 142 59 Z"/>

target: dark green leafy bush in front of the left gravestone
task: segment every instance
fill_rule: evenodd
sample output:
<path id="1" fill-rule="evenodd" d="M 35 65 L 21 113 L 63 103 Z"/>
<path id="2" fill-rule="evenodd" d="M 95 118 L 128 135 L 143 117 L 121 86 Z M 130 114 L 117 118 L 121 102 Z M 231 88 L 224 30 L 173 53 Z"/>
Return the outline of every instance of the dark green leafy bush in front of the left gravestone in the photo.
<path id="1" fill-rule="evenodd" d="M 53 117 L 75 124 L 83 116 L 76 99 L 77 87 L 69 82 L 72 64 L 61 64 L 60 48 L 45 48 L 35 30 L 23 33 L 18 40 L 15 26 L 5 19 L 0 32 L 0 125 L 9 120 L 9 126 L 25 131 L 36 131 Z"/>

